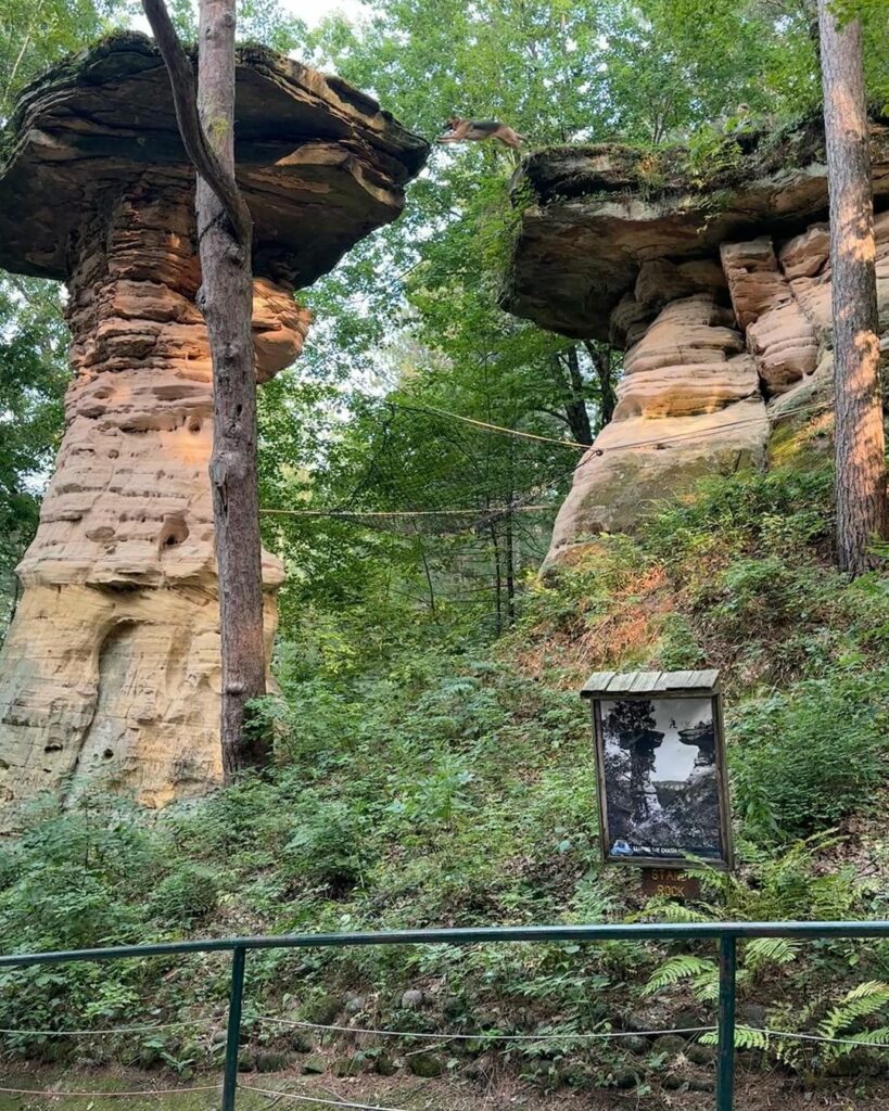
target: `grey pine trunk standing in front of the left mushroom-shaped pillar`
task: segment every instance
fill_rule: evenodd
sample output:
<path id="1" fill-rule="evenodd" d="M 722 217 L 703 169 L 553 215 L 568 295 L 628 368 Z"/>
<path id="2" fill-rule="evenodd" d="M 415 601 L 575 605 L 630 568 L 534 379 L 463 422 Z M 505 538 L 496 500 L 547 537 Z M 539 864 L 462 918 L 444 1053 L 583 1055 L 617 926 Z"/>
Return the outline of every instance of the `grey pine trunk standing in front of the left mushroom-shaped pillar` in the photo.
<path id="1" fill-rule="evenodd" d="M 200 0 L 198 110 L 209 146 L 234 171 L 234 0 Z M 266 692 L 257 474 L 250 244 L 239 243 L 212 188 L 198 177 L 198 237 L 213 360 L 213 492 L 222 640 L 221 740 L 227 781 L 261 765 L 267 744 L 244 733 L 244 705 Z"/>

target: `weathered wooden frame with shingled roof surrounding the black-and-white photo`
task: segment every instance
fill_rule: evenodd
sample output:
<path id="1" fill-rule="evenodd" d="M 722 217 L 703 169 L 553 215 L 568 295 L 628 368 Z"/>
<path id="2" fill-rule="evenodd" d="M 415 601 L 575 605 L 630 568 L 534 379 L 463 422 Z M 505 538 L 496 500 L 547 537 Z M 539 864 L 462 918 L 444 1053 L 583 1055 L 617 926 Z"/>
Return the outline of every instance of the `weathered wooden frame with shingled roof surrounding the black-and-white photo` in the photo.
<path id="1" fill-rule="evenodd" d="M 701 865 L 729 871 L 733 868 L 735 857 L 731 838 L 731 811 L 729 802 L 728 774 L 726 771 L 725 727 L 722 718 L 722 695 L 718 688 L 718 671 L 685 671 L 685 672 L 598 672 L 592 675 L 581 691 L 581 697 L 590 699 L 592 712 L 592 730 L 596 748 L 597 794 L 599 801 L 599 832 L 601 854 L 605 863 L 630 864 L 636 868 L 678 869 Z M 606 779 L 606 740 L 602 727 L 602 702 L 671 702 L 678 700 L 709 699 L 712 722 L 712 747 L 715 763 L 715 785 L 718 807 L 717 825 L 713 830 L 718 838 L 716 854 L 696 855 L 693 852 L 657 851 L 649 854 L 635 851 L 628 841 L 623 841 L 628 852 L 615 853 L 613 845 L 620 841 L 615 839 L 609 829 L 609 798 Z M 650 731 L 649 731 L 650 733 Z M 661 733 L 650 733 L 662 737 Z M 652 742 L 659 744 L 660 742 Z M 688 743 L 688 742 L 685 742 Z M 709 752 L 709 745 L 708 745 Z M 649 788 L 651 787 L 649 782 Z M 650 792 L 649 792 L 650 793 Z M 653 845 L 648 848 L 655 849 Z"/>

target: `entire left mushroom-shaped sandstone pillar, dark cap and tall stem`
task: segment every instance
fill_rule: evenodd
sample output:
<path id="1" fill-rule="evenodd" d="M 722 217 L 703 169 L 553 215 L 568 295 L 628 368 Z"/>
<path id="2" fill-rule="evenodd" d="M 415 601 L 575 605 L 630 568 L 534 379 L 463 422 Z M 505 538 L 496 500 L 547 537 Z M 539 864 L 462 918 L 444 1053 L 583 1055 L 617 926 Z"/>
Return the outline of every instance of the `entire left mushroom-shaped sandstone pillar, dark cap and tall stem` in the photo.
<path id="1" fill-rule="evenodd" d="M 377 103 L 271 51 L 237 68 L 254 222 L 257 377 L 302 344 L 293 290 L 396 219 L 427 147 Z M 0 658 L 0 823 L 43 789 L 161 807 L 221 778 L 208 478 L 211 367 L 194 173 L 151 40 L 108 39 L 22 94 L 0 168 L 0 267 L 68 284 L 73 381 Z M 266 641 L 282 567 L 263 553 Z"/>

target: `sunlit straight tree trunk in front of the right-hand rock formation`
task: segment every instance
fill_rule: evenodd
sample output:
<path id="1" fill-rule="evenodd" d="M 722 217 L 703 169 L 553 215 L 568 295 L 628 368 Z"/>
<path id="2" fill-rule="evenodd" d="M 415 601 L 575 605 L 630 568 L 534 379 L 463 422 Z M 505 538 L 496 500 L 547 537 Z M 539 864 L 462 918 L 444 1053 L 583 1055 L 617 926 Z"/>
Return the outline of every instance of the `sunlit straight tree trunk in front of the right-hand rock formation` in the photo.
<path id="1" fill-rule="evenodd" d="M 818 0 L 833 288 L 837 553 L 852 574 L 875 563 L 887 532 L 886 444 L 880 398 L 873 193 L 861 24 L 840 28 Z"/>

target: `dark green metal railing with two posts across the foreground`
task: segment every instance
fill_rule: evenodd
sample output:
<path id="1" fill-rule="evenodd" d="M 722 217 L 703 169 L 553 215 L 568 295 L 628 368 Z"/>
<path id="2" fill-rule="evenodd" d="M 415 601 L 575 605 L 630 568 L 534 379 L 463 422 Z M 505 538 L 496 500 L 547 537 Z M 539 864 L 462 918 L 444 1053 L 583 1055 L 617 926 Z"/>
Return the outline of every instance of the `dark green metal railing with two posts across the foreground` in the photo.
<path id="1" fill-rule="evenodd" d="M 238 1088 L 238 1050 L 247 953 L 256 949 L 346 949 L 357 945 L 472 945 L 503 942 L 710 940 L 719 943 L 719 1004 L 716 1078 L 716 1111 L 735 1105 L 735 998 L 737 947 L 753 938 L 889 938 L 889 921 L 875 922 L 671 922 L 633 925 L 507 925 L 482 929 L 393 930 L 367 933 L 280 934 L 258 938 L 222 938 L 171 941 L 150 945 L 117 945 L 46 953 L 11 953 L 0 957 L 2 968 L 66 964 L 71 961 L 107 961 L 177 953 L 230 952 L 231 987 L 222 1079 L 222 1111 L 234 1111 Z M 483 1035 L 482 1035 L 483 1037 Z"/>

